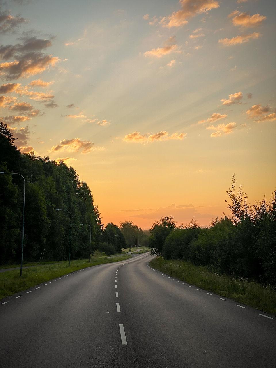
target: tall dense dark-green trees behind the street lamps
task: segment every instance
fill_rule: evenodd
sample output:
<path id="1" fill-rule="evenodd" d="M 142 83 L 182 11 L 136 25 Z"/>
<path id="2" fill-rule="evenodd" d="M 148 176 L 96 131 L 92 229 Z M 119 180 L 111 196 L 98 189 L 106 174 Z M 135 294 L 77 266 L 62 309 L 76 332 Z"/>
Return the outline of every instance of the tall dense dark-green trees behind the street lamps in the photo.
<path id="1" fill-rule="evenodd" d="M 24 262 L 88 258 L 102 241 L 102 222 L 88 185 L 72 167 L 49 157 L 22 154 L 7 125 L 0 123 L 0 172 L 20 173 L 25 186 Z M 21 259 L 24 180 L 0 174 L 0 264 Z M 81 224 L 85 224 L 81 225 Z M 89 226 L 86 226 L 89 225 Z"/>

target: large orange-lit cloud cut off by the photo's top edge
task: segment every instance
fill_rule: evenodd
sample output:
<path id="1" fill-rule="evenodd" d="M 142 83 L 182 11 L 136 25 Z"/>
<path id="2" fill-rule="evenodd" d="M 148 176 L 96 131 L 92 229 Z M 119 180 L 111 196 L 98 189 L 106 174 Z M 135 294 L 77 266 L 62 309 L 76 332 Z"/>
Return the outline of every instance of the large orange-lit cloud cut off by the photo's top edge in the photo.
<path id="1" fill-rule="evenodd" d="M 180 0 L 179 2 L 181 10 L 164 17 L 162 20 L 163 27 L 183 26 L 188 23 L 187 19 L 219 7 L 219 2 L 214 0 Z"/>

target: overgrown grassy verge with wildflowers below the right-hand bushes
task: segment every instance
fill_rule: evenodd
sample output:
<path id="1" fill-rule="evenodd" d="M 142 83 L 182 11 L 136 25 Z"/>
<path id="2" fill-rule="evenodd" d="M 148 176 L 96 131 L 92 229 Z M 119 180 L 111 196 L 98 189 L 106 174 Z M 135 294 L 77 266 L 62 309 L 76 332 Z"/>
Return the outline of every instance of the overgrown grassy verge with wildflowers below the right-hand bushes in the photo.
<path id="1" fill-rule="evenodd" d="M 218 275 L 203 266 L 195 266 L 185 261 L 167 261 L 162 257 L 157 257 L 149 264 L 176 279 L 276 315 L 275 289 L 247 280 Z"/>

